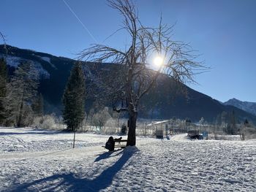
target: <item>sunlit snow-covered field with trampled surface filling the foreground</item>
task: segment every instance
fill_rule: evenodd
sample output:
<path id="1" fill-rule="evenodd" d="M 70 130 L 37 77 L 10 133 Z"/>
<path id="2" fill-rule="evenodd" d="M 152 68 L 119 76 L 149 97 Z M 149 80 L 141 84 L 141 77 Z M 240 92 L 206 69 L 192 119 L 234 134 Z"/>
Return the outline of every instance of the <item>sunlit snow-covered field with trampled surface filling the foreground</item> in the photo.
<path id="1" fill-rule="evenodd" d="M 0 128 L 0 191 L 256 191 L 256 140 L 139 137 L 109 153 L 109 136 Z"/>

